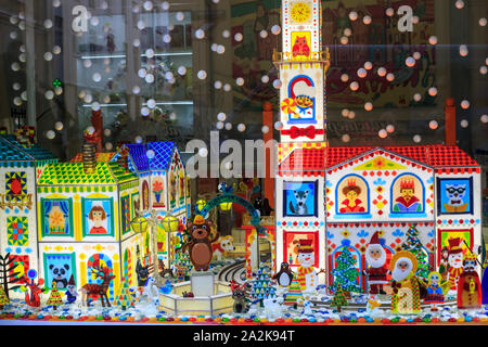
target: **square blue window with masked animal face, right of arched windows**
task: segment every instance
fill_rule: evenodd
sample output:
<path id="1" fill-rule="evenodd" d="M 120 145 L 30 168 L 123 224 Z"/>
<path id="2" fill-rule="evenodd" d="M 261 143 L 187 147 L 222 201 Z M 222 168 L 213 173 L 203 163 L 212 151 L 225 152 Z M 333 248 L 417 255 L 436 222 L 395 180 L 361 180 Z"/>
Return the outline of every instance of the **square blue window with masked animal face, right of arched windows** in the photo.
<path id="1" fill-rule="evenodd" d="M 473 177 L 437 179 L 439 215 L 473 214 Z"/>

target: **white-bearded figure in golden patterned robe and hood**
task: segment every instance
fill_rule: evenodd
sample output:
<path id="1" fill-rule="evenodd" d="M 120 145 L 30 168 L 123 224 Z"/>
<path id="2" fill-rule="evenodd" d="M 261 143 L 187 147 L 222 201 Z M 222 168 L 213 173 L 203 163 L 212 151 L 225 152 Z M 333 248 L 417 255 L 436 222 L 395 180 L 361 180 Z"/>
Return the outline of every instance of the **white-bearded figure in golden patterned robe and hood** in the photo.
<path id="1" fill-rule="evenodd" d="M 390 261 L 391 281 L 385 285 L 386 293 L 391 294 L 393 313 L 419 313 L 421 280 L 415 277 L 418 261 L 408 250 L 399 250 Z"/>

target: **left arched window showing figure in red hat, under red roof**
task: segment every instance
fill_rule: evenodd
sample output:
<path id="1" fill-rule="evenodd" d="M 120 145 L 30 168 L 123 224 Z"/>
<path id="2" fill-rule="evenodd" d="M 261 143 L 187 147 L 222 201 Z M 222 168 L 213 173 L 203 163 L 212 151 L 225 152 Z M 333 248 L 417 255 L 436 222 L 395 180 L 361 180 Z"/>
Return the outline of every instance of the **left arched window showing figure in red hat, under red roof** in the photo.
<path id="1" fill-rule="evenodd" d="M 335 191 L 335 213 L 337 218 L 371 218 L 370 188 L 358 175 L 341 179 Z"/>

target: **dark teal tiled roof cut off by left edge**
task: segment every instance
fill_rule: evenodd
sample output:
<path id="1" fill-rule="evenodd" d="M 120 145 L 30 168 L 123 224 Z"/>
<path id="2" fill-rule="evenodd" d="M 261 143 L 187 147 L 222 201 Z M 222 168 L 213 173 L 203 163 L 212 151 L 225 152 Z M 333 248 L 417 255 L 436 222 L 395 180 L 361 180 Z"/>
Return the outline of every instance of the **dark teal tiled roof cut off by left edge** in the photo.
<path id="1" fill-rule="evenodd" d="M 0 162 L 50 160 L 55 155 L 38 144 L 25 147 L 12 134 L 0 136 Z"/>

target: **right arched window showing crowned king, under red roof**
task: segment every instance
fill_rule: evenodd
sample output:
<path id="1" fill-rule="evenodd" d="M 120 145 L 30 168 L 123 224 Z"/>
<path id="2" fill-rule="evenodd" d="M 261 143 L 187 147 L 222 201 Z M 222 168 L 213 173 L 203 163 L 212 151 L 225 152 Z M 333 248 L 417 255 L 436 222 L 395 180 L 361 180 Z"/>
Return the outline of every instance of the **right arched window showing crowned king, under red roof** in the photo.
<path id="1" fill-rule="evenodd" d="M 414 174 L 403 174 L 391 182 L 389 217 L 425 217 L 425 187 Z"/>

